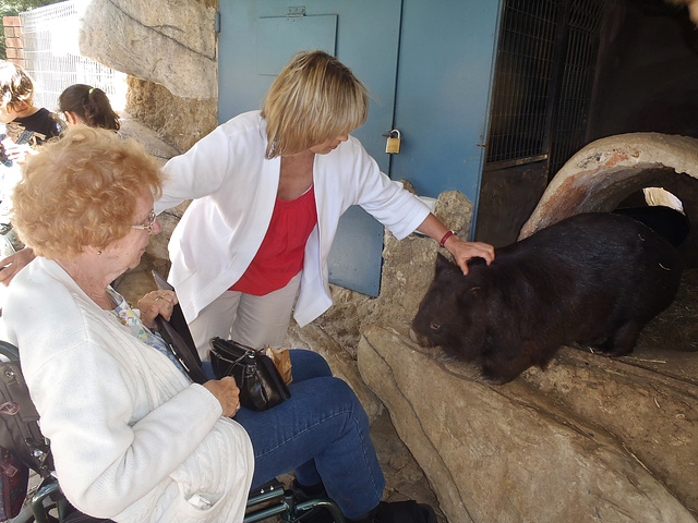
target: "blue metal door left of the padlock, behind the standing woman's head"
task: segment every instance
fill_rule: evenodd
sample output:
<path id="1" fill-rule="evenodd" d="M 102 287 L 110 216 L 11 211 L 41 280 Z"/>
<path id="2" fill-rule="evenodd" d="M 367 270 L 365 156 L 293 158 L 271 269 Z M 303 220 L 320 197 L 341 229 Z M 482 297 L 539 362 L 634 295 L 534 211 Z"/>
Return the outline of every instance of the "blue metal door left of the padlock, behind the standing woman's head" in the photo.
<path id="1" fill-rule="evenodd" d="M 258 109 L 284 64 L 322 49 L 351 68 L 371 93 L 369 120 L 353 135 L 389 172 L 385 137 L 393 124 L 401 0 L 221 0 L 218 119 Z M 383 226 L 359 207 L 341 218 L 329 257 L 333 283 L 376 296 Z"/>

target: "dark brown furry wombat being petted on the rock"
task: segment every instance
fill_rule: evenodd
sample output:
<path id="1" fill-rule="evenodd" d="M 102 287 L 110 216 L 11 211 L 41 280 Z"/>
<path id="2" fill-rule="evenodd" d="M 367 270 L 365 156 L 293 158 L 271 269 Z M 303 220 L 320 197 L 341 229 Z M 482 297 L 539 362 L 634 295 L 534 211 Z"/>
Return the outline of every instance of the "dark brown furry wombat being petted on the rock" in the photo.
<path id="1" fill-rule="evenodd" d="M 683 271 L 677 251 L 621 215 L 581 214 L 495 251 L 469 273 L 442 255 L 412 323 L 422 345 L 479 363 L 496 384 L 544 368 L 562 344 L 628 354 L 666 308 Z"/>

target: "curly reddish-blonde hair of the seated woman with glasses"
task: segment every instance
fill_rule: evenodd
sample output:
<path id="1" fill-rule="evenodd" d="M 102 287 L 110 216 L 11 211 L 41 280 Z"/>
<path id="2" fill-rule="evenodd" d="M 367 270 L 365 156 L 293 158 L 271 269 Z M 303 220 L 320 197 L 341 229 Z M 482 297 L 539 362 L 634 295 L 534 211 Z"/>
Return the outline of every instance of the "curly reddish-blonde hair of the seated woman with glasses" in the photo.
<path id="1" fill-rule="evenodd" d="M 159 197 L 163 179 L 142 145 L 75 125 L 28 157 L 14 188 L 12 223 L 47 258 L 104 248 L 131 232 L 146 190 Z"/>

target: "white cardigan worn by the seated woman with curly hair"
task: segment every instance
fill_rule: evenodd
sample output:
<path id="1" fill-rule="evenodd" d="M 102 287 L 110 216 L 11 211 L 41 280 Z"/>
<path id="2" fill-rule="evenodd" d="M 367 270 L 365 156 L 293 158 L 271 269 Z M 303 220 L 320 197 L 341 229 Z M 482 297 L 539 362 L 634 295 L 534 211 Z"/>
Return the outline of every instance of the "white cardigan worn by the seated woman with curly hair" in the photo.
<path id="1" fill-rule="evenodd" d="M 204 387 L 55 262 L 36 258 L 15 277 L 2 316 L 77 509 L 118 522 L 242 521 L 252 446 Z M 212 507 L 196 508 L 196 495 Z"/>

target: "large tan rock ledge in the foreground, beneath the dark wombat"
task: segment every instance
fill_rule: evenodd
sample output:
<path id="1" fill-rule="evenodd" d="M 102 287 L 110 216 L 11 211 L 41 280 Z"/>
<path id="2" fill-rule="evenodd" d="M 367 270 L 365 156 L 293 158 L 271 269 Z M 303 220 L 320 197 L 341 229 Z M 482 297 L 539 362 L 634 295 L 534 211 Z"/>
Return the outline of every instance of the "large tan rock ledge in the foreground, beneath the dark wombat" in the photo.
<path id="1" fill-rule="evenodd" d="M 575 360 L 573 351 L 583 354 L 561 354 Z M 371 326 L 359 343 L 362 378 L 450 522 L 695 522 L 698 390 L 587 356 L 497 387 L 390 328 Z M 662 409 L 652 409 L 658 397 Z M 629 419 L 612 418 L 628 404 L 634 426 L 616 434 Z M 666 436 L 677 425 L 676 438 Z M 677 461 L 693 467 L 667 481 Z"/>

